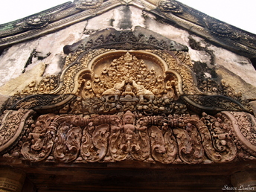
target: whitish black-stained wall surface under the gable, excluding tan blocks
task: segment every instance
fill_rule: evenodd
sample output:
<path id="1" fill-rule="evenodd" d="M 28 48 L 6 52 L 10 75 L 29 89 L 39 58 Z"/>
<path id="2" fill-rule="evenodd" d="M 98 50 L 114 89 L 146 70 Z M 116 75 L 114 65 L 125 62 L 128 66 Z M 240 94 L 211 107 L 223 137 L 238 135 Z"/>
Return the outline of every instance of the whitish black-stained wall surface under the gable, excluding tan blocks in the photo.
<path id="1" fill-rule="evenodd" d="M 246 57 L 211 45 L 210 42 L 191 35 L 188 31 L 158 22 L 155 16 L 150 13 L 145 14 L 136 7 L 125 9 L 123 6 L 116 7 L 100 16 L 79 22 L 55 33 L 8 48 L 0 57 L 0 85 L 2 86 L 9 80 L 19 77 L 22 72 L 41 62 L 47 65 L 44 75 L 59 74 L 66 56 L 63 54 L 65 45 L 71 45 L 85 38 L 89 33 L 94 33 L 104 28 L 134 29 L 135 26 L 150 29 L 168 39 L 187 45 L 192 62 L 205 63 L 208 68 L 223 65 L 223 67 L 245 80 L 246 83 L 250 83 L 253 86 L 256 85 L 255 69 Z M 196 42 L 197 47 L 190 44 L 190 39 Z"/>

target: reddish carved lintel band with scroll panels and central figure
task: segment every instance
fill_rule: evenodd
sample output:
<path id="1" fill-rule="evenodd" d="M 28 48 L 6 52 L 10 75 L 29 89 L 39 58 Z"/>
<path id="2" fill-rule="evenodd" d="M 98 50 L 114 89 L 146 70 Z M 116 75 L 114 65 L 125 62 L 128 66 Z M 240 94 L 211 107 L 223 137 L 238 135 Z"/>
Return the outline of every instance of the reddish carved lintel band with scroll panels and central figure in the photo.
<path id="1" fill-rule="evenodd" d="M 241 121 L 241 117 L 245 120 Z M 202 118 L 197 115 L 140 117 L 129 111 L 124 115 L 93 117 L 46 114 L 25 129 L 27 136 L 4 156 L 33 162 L 137 160 L 199 164 L 233 161 L 238 150 L 238 157 L 245 154 L 243 159 L 255 159 L 251 138 L 254 136 L 246 133 L 255 127 L 246 117 L 250 115 L 244 112 L 220 112 L 215 116 L 204 113 Z M 237 130 L 237 122 L 244 122 L 245 128 Z"/>

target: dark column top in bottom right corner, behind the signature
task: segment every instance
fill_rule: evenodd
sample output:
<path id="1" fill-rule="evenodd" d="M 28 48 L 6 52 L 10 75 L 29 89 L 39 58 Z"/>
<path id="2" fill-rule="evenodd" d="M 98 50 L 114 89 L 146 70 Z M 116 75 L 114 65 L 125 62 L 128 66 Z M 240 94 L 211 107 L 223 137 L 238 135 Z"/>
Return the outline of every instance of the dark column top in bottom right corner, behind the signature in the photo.
<path id="1" fill-rule="evenodd" d="M 256 191 L 256 170 L 243 170 L 232 174 L 231 184 L 235 191 Z"/>

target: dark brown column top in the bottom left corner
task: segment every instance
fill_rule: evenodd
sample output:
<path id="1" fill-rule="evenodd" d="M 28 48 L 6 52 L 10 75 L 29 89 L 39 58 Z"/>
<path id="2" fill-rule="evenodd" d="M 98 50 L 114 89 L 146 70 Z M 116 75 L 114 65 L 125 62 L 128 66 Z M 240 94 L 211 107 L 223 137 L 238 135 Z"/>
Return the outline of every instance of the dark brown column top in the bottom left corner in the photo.
<path id="1" fill-rule="evenodd" d="M 0 191 L 22 191 L 25 178 L 22 171 L 0 167 Z"/>

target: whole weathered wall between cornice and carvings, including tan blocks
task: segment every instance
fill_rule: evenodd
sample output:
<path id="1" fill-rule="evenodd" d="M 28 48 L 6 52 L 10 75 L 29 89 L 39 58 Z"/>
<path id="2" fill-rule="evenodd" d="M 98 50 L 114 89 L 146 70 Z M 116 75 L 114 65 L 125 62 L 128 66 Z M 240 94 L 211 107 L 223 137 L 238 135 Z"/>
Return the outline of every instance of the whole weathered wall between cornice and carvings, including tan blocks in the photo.
<path id="1" fill-rule="evenodd" d="M 0 95 L 13 95 L 32 80 L 48 74 L 59 74 L 65 62 L 65 45 L 78 42 L 105 28 L 133 29 L 141 26 L 187 45 L 195 67 L 205 77 L 220 77 L 247 98 L 254 98 L 256 72 L 246 57 L 211 44 L 181 28 L 160 22 L 138 7 L 120 6 L 100 16 L 71 25 L 63 30 L 13 45 L 0 56 Z"/>

